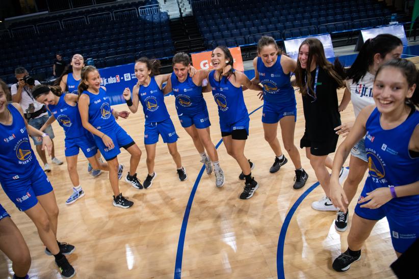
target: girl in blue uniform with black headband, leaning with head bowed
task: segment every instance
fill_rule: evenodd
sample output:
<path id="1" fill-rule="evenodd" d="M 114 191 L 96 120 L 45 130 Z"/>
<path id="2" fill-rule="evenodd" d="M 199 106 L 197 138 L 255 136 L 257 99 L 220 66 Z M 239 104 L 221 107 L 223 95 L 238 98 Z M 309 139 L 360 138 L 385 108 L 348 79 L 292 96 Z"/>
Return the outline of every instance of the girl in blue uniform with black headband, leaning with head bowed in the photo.
<path id="1" fill-rule="evenodd" d="M 108 164 L 99 162 L 95 156 L 97 147 L 92 134 L 83 128 L 77 107 L 77 95 L 63 94 L 59 86 L 49 88 L 45 85 L 34 87 L 32 95 L 38 102 L 44 103 L 51 113 L 48 121 L 41 127 L 40 131 L 43 131 L 45 127 L 56 119 L 58 119 L 58 123 L 64 129 L 65 158 L 68 174 L 73 183 L 73 193 L 65 203 L 70 205 L 85 195 L 77 173 L 79 149 L 83 151 L 94 169 L 108 171 Z"/>

